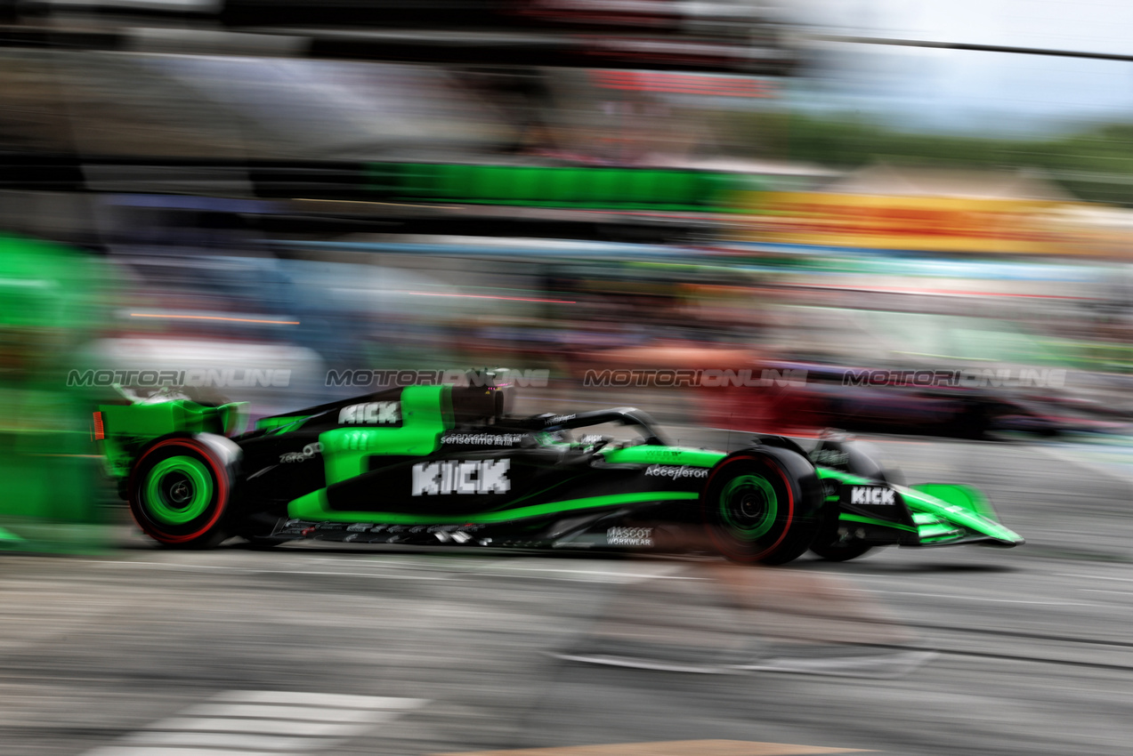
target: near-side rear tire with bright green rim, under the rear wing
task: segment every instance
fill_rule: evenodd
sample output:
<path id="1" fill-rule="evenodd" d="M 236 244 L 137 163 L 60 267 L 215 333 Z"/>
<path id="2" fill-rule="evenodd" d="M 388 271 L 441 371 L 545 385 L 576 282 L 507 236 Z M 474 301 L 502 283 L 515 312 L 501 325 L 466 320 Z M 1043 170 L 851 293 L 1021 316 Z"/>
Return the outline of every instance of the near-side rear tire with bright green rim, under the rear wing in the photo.
<path id="1" fill-rule="evenodd" d="M 134 519 L 162 545 L 207 549 L 230 533 L 225 525 L 232 473 L 207 444 L 167 438 L 142 454 L 130 474 Z"/>

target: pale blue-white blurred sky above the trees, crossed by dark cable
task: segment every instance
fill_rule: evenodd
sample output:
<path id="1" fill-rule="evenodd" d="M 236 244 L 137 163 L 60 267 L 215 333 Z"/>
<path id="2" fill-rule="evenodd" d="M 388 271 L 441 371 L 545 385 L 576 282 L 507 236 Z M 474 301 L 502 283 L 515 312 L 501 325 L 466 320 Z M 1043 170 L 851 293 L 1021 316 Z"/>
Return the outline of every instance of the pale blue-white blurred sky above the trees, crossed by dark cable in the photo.
<path id="1" fill-rule="evenodd" d="M 837 34 L 1133 54 L 1130 0 L 793 0 L 784 11 Z M 1133 62 L 826 46 L 817 83 L 825 106 L 942 130 L 1033 134 L 1133 120 Z"/>

